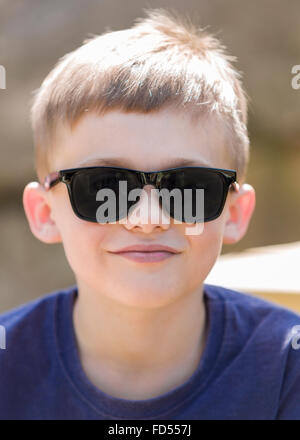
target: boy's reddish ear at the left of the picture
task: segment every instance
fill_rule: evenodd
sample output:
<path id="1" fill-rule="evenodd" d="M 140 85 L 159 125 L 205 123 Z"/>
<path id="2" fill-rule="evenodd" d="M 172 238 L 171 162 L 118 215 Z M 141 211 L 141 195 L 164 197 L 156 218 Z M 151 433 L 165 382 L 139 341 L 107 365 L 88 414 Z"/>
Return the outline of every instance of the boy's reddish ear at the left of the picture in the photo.
<path id="1" fill-rule="evenodd" d="M 33 235 L 44 243 L 60 243 L 60 232 L 51 218 L 46 190 L 38 182 L 30 182 L 23 192 L 23 206 Z"/>

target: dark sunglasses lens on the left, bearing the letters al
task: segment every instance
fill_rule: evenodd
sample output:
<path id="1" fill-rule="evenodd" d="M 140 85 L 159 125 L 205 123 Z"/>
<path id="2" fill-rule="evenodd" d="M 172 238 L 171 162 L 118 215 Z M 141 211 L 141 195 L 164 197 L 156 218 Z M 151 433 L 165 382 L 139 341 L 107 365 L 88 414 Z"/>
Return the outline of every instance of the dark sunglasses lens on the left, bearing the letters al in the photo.
<path id="1" fill-rule="evenodd" d="M 136 175 L 130 171 L 109 168 L 78 171 L 71 184 L 73 205 L 79 217 L 87 221 L 115 222 L 126 217 L 130 207 L 139 201 L 139 198 L 127 201 L 127 206 L 122 203 L 137 187 Z"/>

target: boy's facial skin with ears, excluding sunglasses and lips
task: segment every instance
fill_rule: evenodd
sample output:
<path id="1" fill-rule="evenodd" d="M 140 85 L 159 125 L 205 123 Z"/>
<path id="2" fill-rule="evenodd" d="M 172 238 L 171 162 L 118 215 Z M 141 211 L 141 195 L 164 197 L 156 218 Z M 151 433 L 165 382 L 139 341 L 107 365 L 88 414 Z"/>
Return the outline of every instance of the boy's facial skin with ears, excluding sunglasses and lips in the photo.
<path id="1" fill-rule="evenodd" d="M 73 131 L 65 127 L 58 132 L 51 171 L 101 165 L 108 158 L 109 165 L 143 171 L 179 167 L 180 159 L 191 160 L 193 166 L 232 168 L 221 125 L 201 119 L 195 124 L 187 113 L 167 109 L 87 114 Z M 173 219 L 169 224 L 130 217 L 124 224 L 81 220 L 64 183 L 50 191 L 28 184 L 23 200 L 34 235 L 46 243 L 62 241 L 79 288 L 144 308 L 163 306 L 202 288 L 222 243 L 238 241 L 246 232 L 255 204 L 250 185 L 229 191 L 221 216 L 205 223 L 201 234 L 187 235 L 186 224 Z M 137 244 L 167 245 L 179 253 L 157 262 L 112 253 Z"/>

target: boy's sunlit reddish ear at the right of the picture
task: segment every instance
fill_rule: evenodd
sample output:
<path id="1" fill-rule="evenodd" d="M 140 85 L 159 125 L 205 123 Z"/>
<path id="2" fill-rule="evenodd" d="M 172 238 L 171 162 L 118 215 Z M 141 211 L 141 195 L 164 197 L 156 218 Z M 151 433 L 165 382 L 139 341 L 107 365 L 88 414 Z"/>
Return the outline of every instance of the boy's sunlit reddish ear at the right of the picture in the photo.
<path id="1" fill-rule="evenodd" d="M 247 232 L 255 208 L 255 190 L 244 183 L 230 194 L 228 218 L 224 226 L 223 244 L 236 243 Z"/>

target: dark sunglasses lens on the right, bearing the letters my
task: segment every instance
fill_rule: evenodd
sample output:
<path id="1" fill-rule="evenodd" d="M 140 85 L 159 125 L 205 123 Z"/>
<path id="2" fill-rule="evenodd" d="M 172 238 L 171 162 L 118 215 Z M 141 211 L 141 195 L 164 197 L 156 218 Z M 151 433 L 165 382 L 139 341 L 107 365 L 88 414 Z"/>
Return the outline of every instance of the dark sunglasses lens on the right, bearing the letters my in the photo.
<path id="1" fill-rule="evenodd" d="M 171 170 L 164 174 L 160 186 L 169 191 L 178 188 L 181 193 L 181 199 L 160 198 L 163 209 L 176 220 L 199 223 L 213 220 L 222 212 L 227 185 L 222 174 L 216 171 L 197 168 Z M 197 189 L 204 191 L 197 192 Z"/>

